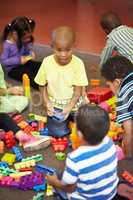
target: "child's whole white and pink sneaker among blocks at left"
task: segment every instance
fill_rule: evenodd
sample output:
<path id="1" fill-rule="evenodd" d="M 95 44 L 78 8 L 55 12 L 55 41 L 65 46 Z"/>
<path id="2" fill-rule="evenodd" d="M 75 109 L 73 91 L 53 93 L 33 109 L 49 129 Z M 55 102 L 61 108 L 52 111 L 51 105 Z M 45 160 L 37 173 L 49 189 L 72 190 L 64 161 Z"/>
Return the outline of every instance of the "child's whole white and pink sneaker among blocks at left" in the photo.
<path id="1" fill-rule="evenodd" d="M 46 148 L 50 145 L 50 137 L 49 136 L 36 136 L 30 139 L 30 141 L 26 142 L 23 145 L 25 151 L 34 151 Z"/>

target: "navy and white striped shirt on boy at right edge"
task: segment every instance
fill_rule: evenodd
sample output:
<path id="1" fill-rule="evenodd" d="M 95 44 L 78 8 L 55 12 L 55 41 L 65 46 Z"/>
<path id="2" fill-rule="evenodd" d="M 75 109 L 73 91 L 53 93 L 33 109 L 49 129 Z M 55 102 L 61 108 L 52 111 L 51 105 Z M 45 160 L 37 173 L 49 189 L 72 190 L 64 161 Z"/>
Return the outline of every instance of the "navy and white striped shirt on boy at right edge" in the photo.
<path id="1" fill-rule="evenodd" d="M 117 97 L 117 121 L 133 120 L 133 72 L 126 76 Z"/>

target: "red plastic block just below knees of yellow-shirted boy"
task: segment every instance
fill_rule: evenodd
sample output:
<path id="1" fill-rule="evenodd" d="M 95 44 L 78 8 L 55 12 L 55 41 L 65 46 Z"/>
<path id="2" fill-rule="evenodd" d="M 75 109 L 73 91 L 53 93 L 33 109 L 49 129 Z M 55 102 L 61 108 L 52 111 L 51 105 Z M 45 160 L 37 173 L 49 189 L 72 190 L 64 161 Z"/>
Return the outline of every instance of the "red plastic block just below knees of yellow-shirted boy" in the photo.
<path id="1" fill-rule="evenodd" d="M 64 151 L 68 146 L 68 139 L 66 137 L 63 138 L 52 138 L 51 139 L 52 148 L 54 151 Z"/>

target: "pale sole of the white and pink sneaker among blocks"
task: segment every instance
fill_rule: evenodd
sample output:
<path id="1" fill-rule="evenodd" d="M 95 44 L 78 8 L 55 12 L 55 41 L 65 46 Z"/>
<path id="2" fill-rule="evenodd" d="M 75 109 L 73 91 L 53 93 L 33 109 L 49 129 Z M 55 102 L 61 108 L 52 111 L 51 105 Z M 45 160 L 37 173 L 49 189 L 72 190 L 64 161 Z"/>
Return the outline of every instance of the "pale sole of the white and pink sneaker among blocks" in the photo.
<path id="1" fill-rule="evenodd" d="M 40 150 L 40 149 L 46 148 L 49 145 L 50 145 L 50 139 L 44 138 L 41 141 L 35 141 L 30 144 L 25 144 L 23 148 L 24 148 L 24 151 L 34 151 L 34 150 Z"/>

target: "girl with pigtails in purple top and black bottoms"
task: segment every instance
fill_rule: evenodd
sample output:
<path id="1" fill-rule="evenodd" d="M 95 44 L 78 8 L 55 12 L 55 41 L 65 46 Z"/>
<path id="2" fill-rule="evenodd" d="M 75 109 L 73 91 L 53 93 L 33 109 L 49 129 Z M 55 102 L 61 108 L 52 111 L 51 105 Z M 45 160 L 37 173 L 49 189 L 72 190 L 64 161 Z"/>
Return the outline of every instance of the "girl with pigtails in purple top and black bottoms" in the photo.
<path id="1" fill-rule="evenodd" d="M 31 46 L 35 22 L 25 16 L 16 17 L 5 26 L 3 31 L 3 51 L 0 62 L 8 72 L 8 76 L 22 81 L 23 74 L 28 74 L 31 86 L 38 89 L 34 78 L 41 62 L 35 61 L 35 53 Z"/>

